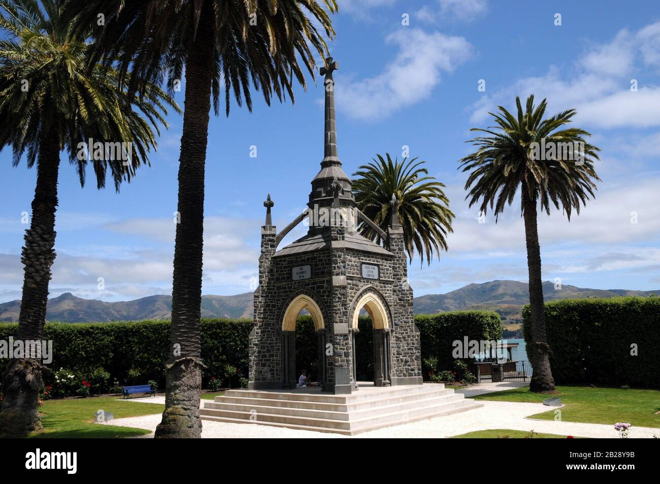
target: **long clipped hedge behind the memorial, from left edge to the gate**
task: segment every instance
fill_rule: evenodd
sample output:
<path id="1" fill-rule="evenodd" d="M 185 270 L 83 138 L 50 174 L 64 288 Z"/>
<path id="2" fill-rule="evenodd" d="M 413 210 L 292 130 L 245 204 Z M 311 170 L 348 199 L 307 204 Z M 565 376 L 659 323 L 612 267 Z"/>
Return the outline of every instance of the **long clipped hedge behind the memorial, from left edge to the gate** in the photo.
<path id="1" fill-rule="evenodd" d="M 499 339 L 500 317 L 489 311 L 457 311 L 415 316 L 421 333 L 422 360 L 436 357 L 440 369 L 453 368 L 452 342 L 456 339 Z M 207 368 L 203 384 L 211 376 L 225 386 L 238 386 L 248 376 L 248 336 L 251 320 L 213 319 L 201 323 L 201 355 Z M 0 339 L 15 336 L 16 323 L 0 324 Z M 317 377 L 317 343 L 310 316 L 300 316 L 296 331 L 296 371 L 306 368 Z M 45 339 L 53 340 L 53 362 L 57 370 L 73 370 L 76 378 L 88 379 L 97 368 L 110 373 L 110 383 L 145 384 L 149 380 L 164 387 L 164 362 L 170 337 L 168 321 L 127 321 L 108 323 L 47 323 Z M 370 320 L 360 318 L 357 335 L 358 380 L 371 380 L 373 346 Z M 11 360 L 0 361 L 0 374 Z M 444 365 L 444 366 L 443 366 Z M 0 380 L 1 381 L 1 380 Z M 48 380 L 46 380 L 48 382 Z M 107 390 L 107 388 L 105 389 Z"/>

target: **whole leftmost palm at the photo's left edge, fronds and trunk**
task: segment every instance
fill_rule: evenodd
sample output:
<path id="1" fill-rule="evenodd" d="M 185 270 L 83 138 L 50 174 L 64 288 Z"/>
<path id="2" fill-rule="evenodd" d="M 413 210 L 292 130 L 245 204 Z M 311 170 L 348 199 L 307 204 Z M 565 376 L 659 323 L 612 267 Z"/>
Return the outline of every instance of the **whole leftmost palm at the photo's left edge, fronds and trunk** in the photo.
<path id="1" fill-rule="evenodd" d="M 32 219 L 22 249 L 24 281 L 17 339 L 44 336 L 48 282 L 55 260 L 55 210 L 60 152 L 69 154 L 81 182 L 92 163 L 96 186 L 105 185 L 110 170 L 119 191 L 123 180 L 148 163 L 155 148 L 157 123 L 166 126 L 164 104 L 179 110 L 158 86 L 146 85 L 140 98 L 129 100 L 119 90 L 119 73 L 95 65 L 88 70 L 86 35 L 75 35 L 61 17 L 59 0 L 0 0 L 0 149 L 11 147 L 16 166 L 27 151 L 27 166 L 36 164 Z M 41 7 L 40 7 L 41 5 Z M 137 111 L 137 108 L 145 118 Z M 148 120 L 148 121 L 147 121 Z M 119 143 L 85 151 L 94 143 Z M 82 145 L 79 145 L 82 143 Z M 121 145 L 121 143 L 126 143 Z M 127 143 L 131 143 L 130 145 Z M 121 147 L 125 152 L 121 151 Z M 88 155 L 92 160 L 88 160 Z M 79 156 L 80 155 L 80 156 Z M 124 158 L 124 159 L 122 159 Z M 37 411 L 42 366 L 35 355 L 16 359 L 5 374 L 0 433 L 24 435 L 42 428 Z"/>

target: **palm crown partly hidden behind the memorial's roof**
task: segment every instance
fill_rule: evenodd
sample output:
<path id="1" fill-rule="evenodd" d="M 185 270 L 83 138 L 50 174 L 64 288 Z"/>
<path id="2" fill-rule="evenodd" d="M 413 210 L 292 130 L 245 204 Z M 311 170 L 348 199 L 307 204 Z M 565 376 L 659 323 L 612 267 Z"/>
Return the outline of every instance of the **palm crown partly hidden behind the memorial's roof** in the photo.
<path id="1" fill-rule="evenodd" d="M 376 155 L 374 162 L 360 166 L 353 176 L 359 176 L 352 182 L 353 193 L 358 209 L 372 219 L 383 231 L 391 221 L 393 196 L 399 201 L 399 221 L 403 228 L 403 242 L 408 258 L 413 261 L 415 252 L 420 256 L 420 265 L 431 263 L 435 250 L 440 257 L 440 250 L 447 250 L 447 232 L 453 232 L 451 220 L 454 214 L 449 210 L 449 199 L 444 191 L 444 184 L 428 176 L 428 170 L 422 167 L 424 161 L 417 158 L 403 158 L 401 162 L 392 161 L 389 153 L 385 158 Z M 361 222 L 360 233 L 369 240 L 380 244 L 378 232 Z"/>

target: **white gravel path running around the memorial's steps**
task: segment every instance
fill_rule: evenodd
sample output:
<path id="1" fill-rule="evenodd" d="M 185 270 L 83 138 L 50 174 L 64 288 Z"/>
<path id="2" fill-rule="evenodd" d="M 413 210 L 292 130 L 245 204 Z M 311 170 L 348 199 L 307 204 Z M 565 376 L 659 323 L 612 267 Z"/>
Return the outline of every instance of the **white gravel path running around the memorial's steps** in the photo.
<path id="1" fill-rule="evenodd" d="M 510 401 L 482 401 L 480 403 L 484 403 L 484 406 L 479 409 L 364 432 L 352 438 L 438 438 L 487 429 L 533 430 L 581 437 L 618 438 L 613 425 L 527 419 L 527 415 L 548 411 L 548 407 L 542 403 Z M 154 431 L 156 425 L 160 423 L 160 419 L 160 414 L 144 415 L 143 417 L 116 419 L 100 425 L 137 427 Z M 284 429 L 269 425 L 213 421 L 202 421 L 202 423 L 202 438 L 351 438 L 339 434 Z M 629 437 L 651 438 L 654 434 L 660 436 L 660 429 L 632 427 Z"/>

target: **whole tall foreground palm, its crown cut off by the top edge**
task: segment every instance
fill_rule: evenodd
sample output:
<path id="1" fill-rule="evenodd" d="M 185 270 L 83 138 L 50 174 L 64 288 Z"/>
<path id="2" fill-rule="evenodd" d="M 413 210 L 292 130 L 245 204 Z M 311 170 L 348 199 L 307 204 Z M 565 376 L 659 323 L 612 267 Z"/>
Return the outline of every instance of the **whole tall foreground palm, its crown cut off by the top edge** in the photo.
<path id="1" fill-rule="evenodd" d="M 130 90 L 163 77 L 170 89 L 176 89 L 185 66 L 180 223 L 174 246 L 166 403 L 156 429 L 158 438 L 201 436 L 199 320 L 211 98 L 216 115 L 223 83 L 227 115 L 232 93 L 238 106 L 244 101 L 251 110 L 250 84 L 261 90 L 268 104 L 273 93 L 279 100 L 288 94 L 293 101 L 293 79 L 305 87 L 302 67 L 314 77 L 314 55 L 325 57 L 327 53 L 325 40 L 308 13 L 329 38 L 335 34 L 328 13 L 319 3 L 331 13 L 337 11 L 335 0 L 70 2 L 71 15 L 77 16 L 80 28 L 96 29 L 98 57 L 120 58 L 119 69 L 127 74 Z M 129 66 L 133 67 L 131 75 Z"/>

